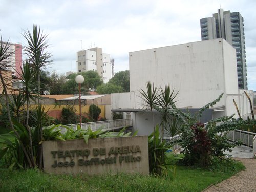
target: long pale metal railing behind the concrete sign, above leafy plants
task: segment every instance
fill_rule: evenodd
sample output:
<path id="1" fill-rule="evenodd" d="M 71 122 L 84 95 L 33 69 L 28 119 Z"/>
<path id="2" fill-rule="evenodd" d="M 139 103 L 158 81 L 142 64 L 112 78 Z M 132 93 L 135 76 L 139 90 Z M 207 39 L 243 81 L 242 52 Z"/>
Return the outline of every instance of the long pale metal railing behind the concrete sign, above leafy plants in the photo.
<path id="1" fill-rule="evenodd" d="M 78 124 L 68 124 L 65 126 L 72 127 L 73 130 L 77 130 Z M 103 130 L 115 130 L 120 129 L 122 127 L 130 127 L 133 126 L 132 119 L 117 119 L 117 120 L 108 120 L 108 121 L 98 121 L 98 122 L 90 122 L 90 123 L 82 123 L 81 128 L 87 130 L 89 127 L 91 130 L 97 130 L 99 128 L 103 128 Z M 66 130 L 65 127 L 60 127 L 63 130 Z"/>

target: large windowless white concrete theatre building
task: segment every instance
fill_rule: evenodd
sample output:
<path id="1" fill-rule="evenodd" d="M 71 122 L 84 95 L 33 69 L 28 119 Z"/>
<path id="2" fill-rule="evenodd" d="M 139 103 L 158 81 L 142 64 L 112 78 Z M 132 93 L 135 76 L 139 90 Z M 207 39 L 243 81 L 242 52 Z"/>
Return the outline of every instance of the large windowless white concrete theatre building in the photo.
<path id="1" fill-rule="evenodd" d="M 224 93 L 202 121 L 232 114 L 238 117 L 233 99 L 244 118 L 251 116 L 244 90 L 238 88 L 236 49 L 222 38 L 130 52 L 129 64 L 131 93 L 112 94 L 112 111 L 127 112 L 139 135 L 153 130 L 152 117 L 143 112 L 139 97 L 147 81 L 163 88 L 169 83 L 179 91 L 176 106 L 180 109 L 197 110 Z M 159 115 L 155 116 L 158 120 Z"/>

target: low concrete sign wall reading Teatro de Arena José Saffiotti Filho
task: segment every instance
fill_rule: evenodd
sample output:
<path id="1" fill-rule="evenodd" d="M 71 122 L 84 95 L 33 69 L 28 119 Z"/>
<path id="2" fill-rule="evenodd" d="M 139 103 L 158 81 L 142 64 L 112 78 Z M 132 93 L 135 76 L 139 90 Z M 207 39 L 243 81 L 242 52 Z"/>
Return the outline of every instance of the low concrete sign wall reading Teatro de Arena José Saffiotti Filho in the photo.
<path id="1" fill-rule="evenodd" d="M 148 175 L 147 140 L 147 136 L 136 136 L 89 139 L 88 144 L 84 140 L 45 141 L 44 170 L 57 174 Z"/>

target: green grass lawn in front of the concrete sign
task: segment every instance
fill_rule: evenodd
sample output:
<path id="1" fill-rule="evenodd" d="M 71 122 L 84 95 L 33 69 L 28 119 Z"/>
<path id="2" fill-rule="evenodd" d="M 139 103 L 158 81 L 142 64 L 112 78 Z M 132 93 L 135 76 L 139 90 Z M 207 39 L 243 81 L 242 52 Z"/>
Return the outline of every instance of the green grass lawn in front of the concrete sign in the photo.
<path id="1" fill-rule="evenodd" d="M 177 166 L 176 175 L 167 177 L 131 174 L 90 177 L 54 175 L 38 170 L 0 169 L 0 191 L 202 191 L 244 169 L 237 163 L 236 170 L 209 170 Z"/>

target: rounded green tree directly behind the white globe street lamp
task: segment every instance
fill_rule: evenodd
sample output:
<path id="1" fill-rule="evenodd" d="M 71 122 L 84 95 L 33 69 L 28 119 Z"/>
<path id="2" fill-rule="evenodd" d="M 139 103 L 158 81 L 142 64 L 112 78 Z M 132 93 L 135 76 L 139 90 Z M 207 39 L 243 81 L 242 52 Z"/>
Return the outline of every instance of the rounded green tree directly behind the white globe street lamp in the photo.
<path id="1" fill-rule="evenodd" d="M 79 93 L 78 86 L 75 81 L 77 75 L 82 75 L 84 78 L 84 81 L 81 84 L 81 92 L 88 92 L 89 89 L 95 90 L 98 86 L 100 86 L 103 83 L 101 77 L 96 71 L 72 73 L 67 77 L 69 80 L 64 84 L 64 94 Z"/>

